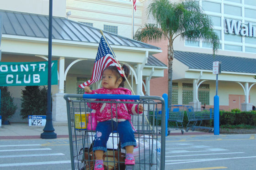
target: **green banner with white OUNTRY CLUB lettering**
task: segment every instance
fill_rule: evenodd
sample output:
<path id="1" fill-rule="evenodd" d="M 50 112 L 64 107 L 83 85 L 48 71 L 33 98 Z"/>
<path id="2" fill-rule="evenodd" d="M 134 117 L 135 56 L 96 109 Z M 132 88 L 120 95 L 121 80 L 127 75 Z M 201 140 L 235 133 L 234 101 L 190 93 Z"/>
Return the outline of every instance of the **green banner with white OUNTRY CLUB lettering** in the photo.
<path id="1" fill-rule="evenodd" d="M 52 85 L 58 84 L 58 61 L 52 61 Z M 48 84 L 48 62 L 0 62 L 0 86 Z"/>

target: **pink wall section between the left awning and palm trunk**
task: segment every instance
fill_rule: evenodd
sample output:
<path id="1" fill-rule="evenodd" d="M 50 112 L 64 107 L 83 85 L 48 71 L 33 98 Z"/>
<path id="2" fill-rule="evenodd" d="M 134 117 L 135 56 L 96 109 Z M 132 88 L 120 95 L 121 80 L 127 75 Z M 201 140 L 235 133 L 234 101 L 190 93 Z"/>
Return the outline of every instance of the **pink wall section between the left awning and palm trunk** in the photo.
<path id="1" fill-rule="evenodd" d="M 168 41 L 163 40 L 160 42 L 148 42 L 153 46 L 158 46 L 161 48 L 162 52 L 158 54 L 154 54 L 158 60 L 163 62 L 166 66 L 168 66 L 167 59 L 167 45 Z M 164 70 L 164 77 L 152 78 L 150 80 L 150 96 L 162 96 L 164 93 L 168 93 L 168 70 Z"/>

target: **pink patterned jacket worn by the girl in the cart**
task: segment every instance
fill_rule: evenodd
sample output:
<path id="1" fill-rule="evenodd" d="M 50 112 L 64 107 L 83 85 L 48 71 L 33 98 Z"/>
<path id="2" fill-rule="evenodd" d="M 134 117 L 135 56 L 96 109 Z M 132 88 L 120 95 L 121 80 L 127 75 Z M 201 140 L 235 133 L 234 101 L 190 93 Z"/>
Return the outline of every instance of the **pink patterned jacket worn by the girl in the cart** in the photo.
<path id="1" fill-rule="evenodd" d="M 86 94 L 86 93 L 85 93 Z M 91 93 L 87 94 L 128 94 L 131 95 L 131 91 L 127 88 L 114 88 L 106 89 L 99 88 L 92 90 Z M 111 101 L 112 99 L 96 99 L 96 101 Z M 117 102 L 134 101 L 134 100 L 120 100 L 116 99 Z M 96 110 L 97 121 L 103 122 L 113 119 L 114 121 L 122 122 L 125 120 L 131 120 L 131 115 L 138 114 L 138 104 L 133 103 L 88 103 L 91 109 Z M 139 114 L 142 112 L 139 112 Z"/>

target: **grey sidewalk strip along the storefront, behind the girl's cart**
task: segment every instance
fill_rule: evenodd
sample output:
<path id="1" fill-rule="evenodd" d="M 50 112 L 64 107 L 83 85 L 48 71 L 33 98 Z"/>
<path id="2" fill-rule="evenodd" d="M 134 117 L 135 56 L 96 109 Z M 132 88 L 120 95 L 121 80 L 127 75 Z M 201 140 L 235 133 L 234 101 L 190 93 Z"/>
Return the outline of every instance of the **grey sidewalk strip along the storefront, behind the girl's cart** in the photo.
<path id="1" fill-rule="evenodd" d="M 0 139 L 41 139 L 44 126 L 28 126 L 28 123 L 11 123 L 0 127 Z M 53 122 L 54 133 L 57 138 L 68 138 L 69 130 L 67 122 Z M 191 131 L 181 134 L 181 130 L 171 130 L 171 135 L 201 135 L 213 134 L 206 132 Z"/>

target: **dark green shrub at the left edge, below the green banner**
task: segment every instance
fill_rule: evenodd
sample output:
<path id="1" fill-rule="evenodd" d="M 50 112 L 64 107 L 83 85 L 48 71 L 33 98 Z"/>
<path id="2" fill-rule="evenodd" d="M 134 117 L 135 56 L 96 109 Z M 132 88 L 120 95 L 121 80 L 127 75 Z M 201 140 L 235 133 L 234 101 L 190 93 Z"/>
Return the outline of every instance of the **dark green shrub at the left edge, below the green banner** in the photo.
<path id="1" fill-rule="evenodd" d="M 13 98 L 8 90 L 8 87 L 0 87 L 1 103 L 0 115 L 2 120 L 8 120 L 16 112 L 17 106 L 13 103 Z"/>

